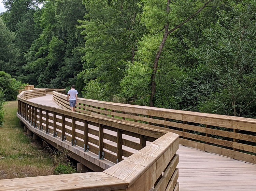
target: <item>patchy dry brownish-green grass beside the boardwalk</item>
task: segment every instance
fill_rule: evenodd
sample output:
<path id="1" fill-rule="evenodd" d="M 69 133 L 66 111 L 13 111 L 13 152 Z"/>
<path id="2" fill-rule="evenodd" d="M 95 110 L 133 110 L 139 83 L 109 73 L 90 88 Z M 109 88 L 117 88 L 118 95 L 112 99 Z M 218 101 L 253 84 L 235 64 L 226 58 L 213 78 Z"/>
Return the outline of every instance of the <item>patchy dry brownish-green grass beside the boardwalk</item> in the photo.
<path id="1" fill-rule="evenodd" d="M 5 102 L 4 125 L 0 127 L 0 179 L 52 175 L 54 167 L 49 152 L 39 141 L 23 132 L 16 117 L 17 101 Z"/>

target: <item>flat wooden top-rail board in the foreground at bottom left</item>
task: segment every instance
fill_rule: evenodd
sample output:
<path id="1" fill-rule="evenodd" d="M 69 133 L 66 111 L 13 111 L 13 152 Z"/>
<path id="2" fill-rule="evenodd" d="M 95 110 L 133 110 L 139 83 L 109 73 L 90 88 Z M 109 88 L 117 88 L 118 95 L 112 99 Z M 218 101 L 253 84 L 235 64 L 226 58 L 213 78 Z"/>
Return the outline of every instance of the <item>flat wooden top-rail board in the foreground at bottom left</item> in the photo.
<path id="1" fill-rule="evenodd" d="M 5 191 L 33 191 L 38 190 L 39 188 L 40 190 L 47 191 L 120 191 L 128 187 L 128 183 L 126 183 L 126 181 L 120 180 L 103 172 L 16 178 L 15 181 L 13 180 L 14 179 L 0 180 L 0 189 Z M 45 182 L 49 184 L 45 184 Z M 63 185 L 63 183 L 65 184 Z M 53 184 L 54 186 L 52 186 Z M 20 185 L 22 185 L 22 188 Z"/>

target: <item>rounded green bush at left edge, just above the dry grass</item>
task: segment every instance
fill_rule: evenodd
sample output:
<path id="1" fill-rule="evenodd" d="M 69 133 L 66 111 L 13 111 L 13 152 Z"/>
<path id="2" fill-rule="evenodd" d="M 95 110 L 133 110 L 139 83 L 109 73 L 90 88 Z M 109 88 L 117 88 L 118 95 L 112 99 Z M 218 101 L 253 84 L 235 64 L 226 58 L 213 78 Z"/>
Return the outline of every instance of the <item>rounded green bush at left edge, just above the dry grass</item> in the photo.
<path id="1" fill-rule="evenodd" d="M 5 101 L 16 100 L 19 90 L 25 85 L 16 81 L 10 74 L 0 71 L 0 87 L 2 87 Z"/>

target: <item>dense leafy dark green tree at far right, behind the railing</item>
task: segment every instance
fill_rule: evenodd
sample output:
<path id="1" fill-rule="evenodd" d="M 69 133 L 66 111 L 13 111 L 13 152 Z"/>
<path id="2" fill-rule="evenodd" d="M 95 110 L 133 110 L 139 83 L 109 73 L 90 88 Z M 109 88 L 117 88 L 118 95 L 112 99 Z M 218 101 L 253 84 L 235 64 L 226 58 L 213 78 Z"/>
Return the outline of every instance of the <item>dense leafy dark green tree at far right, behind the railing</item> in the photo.
<path id="1" fill-rule="evenodd" d="M 228 1 L 219 20 L 204 30 L 196 55 L 215 74 L 217 91 L 205 98 L 203 111 L 253 117 L 256 104 L 256 3 Z"/>

